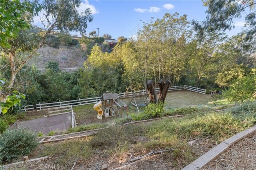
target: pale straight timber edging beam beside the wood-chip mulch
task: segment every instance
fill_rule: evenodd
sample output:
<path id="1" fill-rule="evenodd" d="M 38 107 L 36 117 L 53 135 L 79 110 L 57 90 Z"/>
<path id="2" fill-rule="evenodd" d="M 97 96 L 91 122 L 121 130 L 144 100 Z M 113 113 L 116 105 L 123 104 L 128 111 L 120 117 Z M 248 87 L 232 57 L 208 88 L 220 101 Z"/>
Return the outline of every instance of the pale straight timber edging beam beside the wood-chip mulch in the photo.
<path id="1" fill-rule="evenodd" d="M 199 170 L 203 168 L 206 164 L 214 160 L 216 157 L 218 157 L 220 154 L 222 154 L 225 150 L 227 150 L 231 145 L 234 143 L 240 141 L 244 137 L 247 137 L 248 135 L 256 132 L 256 126 L 252 126 L 245 131 L 242 131 L 229 139 L 226 139 L 210 151 L 206 152 L 204 155 L 200 156 L 198 159 L 196 159 L 194 162 L 183 168 L 182 170 Z"/>

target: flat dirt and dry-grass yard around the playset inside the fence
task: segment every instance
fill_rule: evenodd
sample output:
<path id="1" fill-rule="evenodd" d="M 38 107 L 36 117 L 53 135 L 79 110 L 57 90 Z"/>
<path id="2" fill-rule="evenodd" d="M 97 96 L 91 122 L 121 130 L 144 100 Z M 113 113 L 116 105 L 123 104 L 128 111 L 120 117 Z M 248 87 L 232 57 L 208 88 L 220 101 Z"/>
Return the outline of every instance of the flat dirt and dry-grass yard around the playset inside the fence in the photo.
<path id="1" fill-rule="evenodd" d="M 143 103 L 147 95 L 136 97 L 135 100 L 137 104 Z M 125 104 L 129 104 L 132 98 L 121 98 Z M 179 107 L 188 107 L 188 106 L 197 106 L 198 104 L 207 104 L 212 102 L 215 99 L 211 96 L 205 94 L 199 94 L 196 92 L 190 92 L 188 90 L 180 90 L 168 92 L 165 100 L 165 107 L 167 108 L 179 108 Z M 149 103 L 149 100 L 146 100 Z M 134 103 L 134 100 L 133 100 Z M 138 107 L 140 111 L 143 111 L 145 107 Z M 112 121 L 113 119 L 119 118 L 119 116 L 102 118 L 102 120 L 97 119 L 97 112 L 93 109 L 93 104 L 76 106 L 73 107 L 74 113 L 76 113 L 76 122 L 78 125 L 84 125 L 89 123 L 105 123 Z M 128 107 L 129 113 L 138 113 L 137 108 L 132 104 Z M 126 111 L 123 114 L 126 117 Z"/>

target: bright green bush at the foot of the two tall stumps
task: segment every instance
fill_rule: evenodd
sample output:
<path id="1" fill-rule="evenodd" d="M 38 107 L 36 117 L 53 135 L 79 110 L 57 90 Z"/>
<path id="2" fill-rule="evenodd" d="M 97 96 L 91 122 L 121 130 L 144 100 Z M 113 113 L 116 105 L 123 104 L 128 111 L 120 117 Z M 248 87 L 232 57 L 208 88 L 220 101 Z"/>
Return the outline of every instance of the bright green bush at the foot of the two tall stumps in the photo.
<path id="1" fill-rule="evenodd" d="M 162 103 L 159 104 L 149 104 L 145 110 L 138 114 L 131 114 L 132 120 L 140 121 L 147 119 L 154 119 L 162 117 L 164 112 L 164 107 Z"/>

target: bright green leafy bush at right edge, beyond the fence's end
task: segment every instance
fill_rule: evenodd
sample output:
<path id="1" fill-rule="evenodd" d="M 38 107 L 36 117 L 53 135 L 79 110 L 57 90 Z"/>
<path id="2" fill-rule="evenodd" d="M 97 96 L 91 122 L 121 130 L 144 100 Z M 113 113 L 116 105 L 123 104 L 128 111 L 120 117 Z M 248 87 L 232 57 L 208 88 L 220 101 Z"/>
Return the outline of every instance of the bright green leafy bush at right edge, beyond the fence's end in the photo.
<path id="1" fill-rule="evenodd" d="M 224 96 L 230 102 L 246 102 L 253 99 L 255 93 L 256 78 L 254 76 L 246 76 L 234 80 L 229 89 L 224 92 Z"/>

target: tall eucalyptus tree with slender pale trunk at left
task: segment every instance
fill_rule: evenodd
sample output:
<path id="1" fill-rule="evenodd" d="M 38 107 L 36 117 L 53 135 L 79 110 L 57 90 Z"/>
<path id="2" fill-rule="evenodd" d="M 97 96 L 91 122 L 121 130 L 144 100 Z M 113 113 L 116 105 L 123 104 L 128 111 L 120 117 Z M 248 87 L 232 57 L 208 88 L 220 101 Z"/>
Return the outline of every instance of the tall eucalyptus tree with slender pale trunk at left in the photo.
<path id="1" fill-rule="evenodd" d="M 40 20 L 43 28 L 39 33 L 31 33 L 28 27 L 18 25 L 20 31 L 16 37 L 5 37 L 6 41 L 10 44 L 10 46 L 6 45 L 6 47 L 2 48 L 4 57 L 8 60 L 8 66 L 11 68 L 11 76 L 8 83 L 9 89 L 14 85 L 16 74 L 18 74 L 22 67 L 36 54 L 39 48 L 47 44 L 47 38 L 54 30 L 86 33 L 87 24 L 92 21 L 93 16 L 89 8 L 79 14 L 77 8 L 80 4 L 80 0 L 44 0 L 40 5 L 42 6 L 42 10 L 40 11 L 42 17 Z M 3 8 L 9 9 L 8 6 L 3 6 Z M 25 18 L 25 25 L 31 25 L 32 18 L 34 14 L 36 14 L 34 13 L 35 10 L 25 12 L 26 8 L 24 6 L 21 8 L 22 10 L 11 8 L 11 10 L 7 10 L 7 14 L 8 12 L 17 13 L 19 14 L 18 19 Z M 15 25 L 16 22 L 13 22 L 13 24 Z M 17 27 L 17 25 L 15 25 L 15 27 Z M 7 27 L 3 29 L 7 29 Z M 6 95 L 8 94 L 1 93 L 1 101 L 4 100 Z"/>

